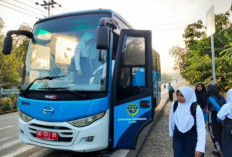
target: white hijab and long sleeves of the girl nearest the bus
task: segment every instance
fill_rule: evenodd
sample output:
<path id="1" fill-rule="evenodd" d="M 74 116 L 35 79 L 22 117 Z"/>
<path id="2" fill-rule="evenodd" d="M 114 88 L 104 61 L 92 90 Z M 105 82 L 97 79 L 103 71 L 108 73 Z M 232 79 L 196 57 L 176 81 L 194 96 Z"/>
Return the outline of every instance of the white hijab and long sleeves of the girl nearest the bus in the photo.
<path id="1" fill-rule="evenodd" d="M 194 118 L 191 114 L 190 107 L 196 102 L 196 95 L 192 88 L 184 86 L 179 89 L 185 98 L 184 103 L 178 102 L 178 107 L 173 113 L 174 102 L 170 108 L 169 114 L 169 136 L 173 137 L 175 126 L 182 133 L 189 131 L 194 125 Z M 197 127 L 197 145 L 196 151 L 205 152 L 206 131 L 205 120 L 200 106 L 196 109 L 196 127 Z"/>

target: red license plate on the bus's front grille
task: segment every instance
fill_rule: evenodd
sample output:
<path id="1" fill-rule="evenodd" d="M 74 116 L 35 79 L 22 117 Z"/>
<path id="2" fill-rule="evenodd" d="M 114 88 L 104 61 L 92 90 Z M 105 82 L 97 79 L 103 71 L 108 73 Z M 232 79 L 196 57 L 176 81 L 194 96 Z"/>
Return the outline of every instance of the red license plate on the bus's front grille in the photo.
<path id="1" fill-rule="evenodd" d="M 46 140 L 58 140 L 58 133 L 57 132 L 50 132 L 50 131 L 43 131 L 43 130 L 37 130 L 36 131 L 36 137 Z"/>

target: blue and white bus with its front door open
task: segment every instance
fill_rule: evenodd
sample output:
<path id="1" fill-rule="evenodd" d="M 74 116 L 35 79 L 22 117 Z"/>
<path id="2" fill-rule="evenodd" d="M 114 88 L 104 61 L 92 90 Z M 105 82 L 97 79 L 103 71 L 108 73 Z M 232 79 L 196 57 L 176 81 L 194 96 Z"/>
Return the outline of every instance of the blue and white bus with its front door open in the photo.
<path id="1" fill-rule="evenodd" d="M 111 10 L 39 20 L 30 38 L 18 96 L 22 142 L 92 152 L 134 149 L 160 102 L 160 56 L 151 31 L 134 30 Z"/>

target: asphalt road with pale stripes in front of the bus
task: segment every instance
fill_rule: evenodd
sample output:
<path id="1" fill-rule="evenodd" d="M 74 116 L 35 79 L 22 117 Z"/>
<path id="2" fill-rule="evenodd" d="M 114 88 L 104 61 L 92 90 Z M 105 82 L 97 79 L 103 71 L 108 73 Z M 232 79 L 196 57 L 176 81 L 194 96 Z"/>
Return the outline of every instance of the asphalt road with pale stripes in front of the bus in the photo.
<path id="1" fill-rule="evenodd" d="M 76 153 L 42 148 L 22 143 L 18 138 L 18 113 L 0 115 L 1 157 L 93 157 L 106 156 L 110 152 Z M 102 155 L 104 153 L 104 155 Z"/>

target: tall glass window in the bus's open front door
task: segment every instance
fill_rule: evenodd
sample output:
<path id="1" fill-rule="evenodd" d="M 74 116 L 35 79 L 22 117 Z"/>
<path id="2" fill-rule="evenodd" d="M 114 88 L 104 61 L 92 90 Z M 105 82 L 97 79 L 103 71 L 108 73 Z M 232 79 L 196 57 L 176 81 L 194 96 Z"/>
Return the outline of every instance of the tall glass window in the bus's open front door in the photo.
<path id="1" fill-rule="evenodd" d="M 146 90 L 145 38 L 126 37 L 119 67 L 117 100 L 144 93 Z"/>

